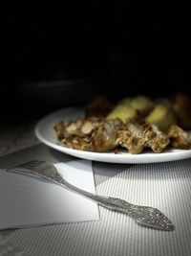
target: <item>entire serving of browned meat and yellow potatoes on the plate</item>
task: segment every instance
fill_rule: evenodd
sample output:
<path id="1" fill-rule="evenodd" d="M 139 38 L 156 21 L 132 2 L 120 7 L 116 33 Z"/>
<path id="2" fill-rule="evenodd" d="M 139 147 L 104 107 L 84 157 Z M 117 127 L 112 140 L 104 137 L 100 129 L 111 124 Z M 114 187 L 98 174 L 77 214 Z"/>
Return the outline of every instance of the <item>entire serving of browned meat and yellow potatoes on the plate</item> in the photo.
<path id="1" fill-rule="evenodd" d="M 188 150 L 191 149 L 191 137 L 179 125 L 176 111 L 183 106 L 175 110 L 176 101 L 152 101 L 138 96 L 124 98 L 115 106 L 105 97 L 99 97 L 86 106 L 83 118 L 63 120 L 53 128 L 63 146 L 79 151 L 117 152 L 123 149 L 138 154 L 145 149 L 162 152 L 169 147 Z M 184 105 L 186 111 L 188 108 Z M 189 114 L 184 113 L 185 116 Z"/>

